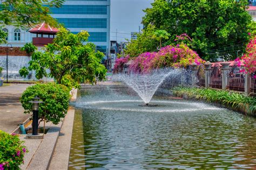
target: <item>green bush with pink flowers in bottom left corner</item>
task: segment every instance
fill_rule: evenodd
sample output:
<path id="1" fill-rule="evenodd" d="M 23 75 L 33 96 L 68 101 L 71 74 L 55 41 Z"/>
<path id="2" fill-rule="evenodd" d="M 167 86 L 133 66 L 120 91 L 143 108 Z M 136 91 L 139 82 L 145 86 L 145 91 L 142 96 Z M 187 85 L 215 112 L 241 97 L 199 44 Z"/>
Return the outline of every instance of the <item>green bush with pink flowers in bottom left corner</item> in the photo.
<path id="1" fill-rule="evenodd" d="M 0 130 L 0 170 L 19 169 L 23 164 L 26 147 L 16 134 Z"/>

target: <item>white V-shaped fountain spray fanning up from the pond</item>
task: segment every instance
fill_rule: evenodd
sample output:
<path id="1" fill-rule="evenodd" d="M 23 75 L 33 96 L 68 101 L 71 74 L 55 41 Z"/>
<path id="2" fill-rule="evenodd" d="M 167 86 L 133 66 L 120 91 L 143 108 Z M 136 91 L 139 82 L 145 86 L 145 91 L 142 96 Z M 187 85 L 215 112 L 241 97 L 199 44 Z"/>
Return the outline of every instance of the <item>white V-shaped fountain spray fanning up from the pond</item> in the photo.
<path id="1" fill-rule="evenodd" d="M 167 84 L 178 85 L 187 83 L 186 71 L 184 69 L 155 69 L 146 74 L 115 74 L 112 81 L 124 82 L 131 87 L 149 105 L 151 98 L 159 86 L 167 80 Z"/>

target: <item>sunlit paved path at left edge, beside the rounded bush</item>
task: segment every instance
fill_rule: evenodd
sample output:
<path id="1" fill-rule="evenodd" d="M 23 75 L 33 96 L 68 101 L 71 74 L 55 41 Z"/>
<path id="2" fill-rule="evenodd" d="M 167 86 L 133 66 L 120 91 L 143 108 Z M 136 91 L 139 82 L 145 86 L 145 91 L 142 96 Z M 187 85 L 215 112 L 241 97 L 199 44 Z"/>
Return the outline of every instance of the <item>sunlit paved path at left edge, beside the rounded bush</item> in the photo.
<path id="1" fill-rule="evenodd" d="M 18 124 L 29 118 L 30 114 L 24 114 L 24 109 L 19 102 L 23 91 L 30 84 L 10 84 L 0 87 L 0 130 L 11 133 Z"/>

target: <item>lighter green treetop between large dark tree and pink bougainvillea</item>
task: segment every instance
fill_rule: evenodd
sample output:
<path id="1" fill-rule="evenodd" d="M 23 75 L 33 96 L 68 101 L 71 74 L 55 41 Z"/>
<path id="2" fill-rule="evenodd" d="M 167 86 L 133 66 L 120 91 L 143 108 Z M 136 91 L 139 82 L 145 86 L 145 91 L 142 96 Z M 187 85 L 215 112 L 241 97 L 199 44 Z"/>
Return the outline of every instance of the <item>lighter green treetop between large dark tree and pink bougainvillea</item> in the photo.
<path id="1" fill-rule="evenodd" d="M 125 49 L 125 54 L 130 56 L 138 56 L 145 52 L 157 51 L 158 41 L 153 39 L 155 28 L 148 25 L 142 34 L 138 34 L 137 40 L 131 40 Z"/>

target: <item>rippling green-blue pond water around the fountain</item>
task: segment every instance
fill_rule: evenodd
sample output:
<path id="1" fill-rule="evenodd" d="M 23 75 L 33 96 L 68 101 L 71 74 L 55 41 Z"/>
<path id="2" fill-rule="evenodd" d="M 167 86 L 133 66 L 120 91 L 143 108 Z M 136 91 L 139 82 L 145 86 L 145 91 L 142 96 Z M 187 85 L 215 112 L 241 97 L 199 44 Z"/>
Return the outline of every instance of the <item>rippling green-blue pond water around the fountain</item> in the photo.
<path id="1" fill-rule="evenodd" d="M 80 90 L 69 169 L 256 168 L 256 120 L 128 88 Z"/>

